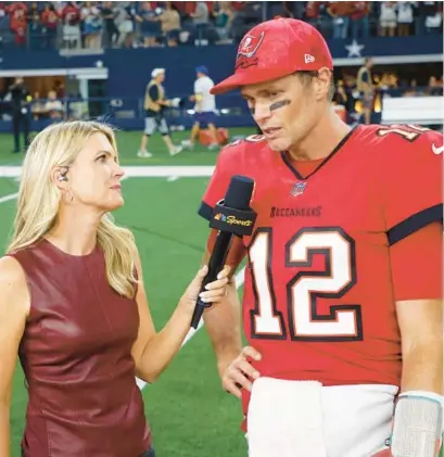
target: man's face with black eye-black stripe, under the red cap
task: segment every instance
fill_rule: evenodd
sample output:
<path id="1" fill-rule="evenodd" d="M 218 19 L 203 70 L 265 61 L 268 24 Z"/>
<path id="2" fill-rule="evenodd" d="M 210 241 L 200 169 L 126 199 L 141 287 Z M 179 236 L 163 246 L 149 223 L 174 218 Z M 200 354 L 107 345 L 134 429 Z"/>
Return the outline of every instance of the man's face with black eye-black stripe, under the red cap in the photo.
<path id="1" fill-rule="evenodd" d="M 321 101 L 315 84 L 304 84 L 295 75 L 244 86 L 241 90 L 254 120 L 275 151 L 297 144 L 320 116 Z"/>

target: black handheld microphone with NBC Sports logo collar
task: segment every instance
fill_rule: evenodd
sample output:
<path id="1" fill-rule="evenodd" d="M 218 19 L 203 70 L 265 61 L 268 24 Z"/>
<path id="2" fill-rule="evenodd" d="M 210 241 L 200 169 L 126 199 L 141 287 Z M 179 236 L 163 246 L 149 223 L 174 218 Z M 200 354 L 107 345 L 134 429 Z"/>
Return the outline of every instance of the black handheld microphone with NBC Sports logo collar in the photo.
<path id="1" fill-rule="evenodd" d="M 202 281 L 201 292 L 205 285 L 216 280 L 224 268 L 234 236 L 243 237 L 253 232 L 256 213 L 250 208 L 254 181 L 246 176 L 234 175 L 228 186 L 225 199 L 213 210 L 210 227 L 218 230 L 216 242 L 208 261 L 208 272 Z M 205 308 L 211 303 L 204 303 L 200 297 L 195 303 L 191 327 L 196 329 Z"/>

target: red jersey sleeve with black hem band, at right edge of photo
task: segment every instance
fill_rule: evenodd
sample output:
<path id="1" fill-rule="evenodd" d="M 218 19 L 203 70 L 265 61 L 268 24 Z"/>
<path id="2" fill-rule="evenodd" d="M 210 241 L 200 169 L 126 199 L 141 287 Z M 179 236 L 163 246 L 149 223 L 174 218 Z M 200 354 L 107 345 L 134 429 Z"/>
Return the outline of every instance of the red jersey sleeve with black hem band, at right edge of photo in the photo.
<path id="1" fill-rule="evenodd" d="M 407 128 L 392 130 L 381 149 L 383 215 L 390 245 L 443 220 L 443 136 Z"/>

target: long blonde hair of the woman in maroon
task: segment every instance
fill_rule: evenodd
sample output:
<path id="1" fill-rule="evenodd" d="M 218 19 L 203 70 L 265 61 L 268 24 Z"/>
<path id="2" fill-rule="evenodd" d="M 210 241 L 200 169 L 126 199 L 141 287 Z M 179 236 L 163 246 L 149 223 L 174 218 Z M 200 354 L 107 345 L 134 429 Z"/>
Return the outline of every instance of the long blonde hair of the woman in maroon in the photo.
<path id="1" fill-rule="evenodd" d="M 117 153 L 112 128 L 92 120 L 58 123 L 40 131 L 30 143 L 22 170 L 14 230 L 8 252 L 38 242 L 54 225 L 61 191 L 51 179 L 54 167 L 69 167 L 85 142 L 93 134 L 103 134 Z M 97 241 L 105 256 L 110 285 L 129 299 L 135 295 L 135 258 L 132 233 L 117 227 L 111 214 L 100 220 Z"/>

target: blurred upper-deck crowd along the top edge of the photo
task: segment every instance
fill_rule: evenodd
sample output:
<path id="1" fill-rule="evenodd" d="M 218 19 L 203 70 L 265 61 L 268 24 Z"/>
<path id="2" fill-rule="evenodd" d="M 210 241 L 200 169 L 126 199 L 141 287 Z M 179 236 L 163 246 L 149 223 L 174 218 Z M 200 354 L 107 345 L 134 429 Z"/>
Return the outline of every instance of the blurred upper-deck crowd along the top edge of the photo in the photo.
<path id="1" fill-rule="evenodd" d="M 238 42 L 276 16 L 301 18 L 326 38 L 443 31 L 440 1 L 39 1 L 0 3 L 1 46 L 94 50 Z"/>

